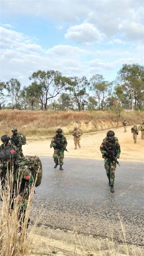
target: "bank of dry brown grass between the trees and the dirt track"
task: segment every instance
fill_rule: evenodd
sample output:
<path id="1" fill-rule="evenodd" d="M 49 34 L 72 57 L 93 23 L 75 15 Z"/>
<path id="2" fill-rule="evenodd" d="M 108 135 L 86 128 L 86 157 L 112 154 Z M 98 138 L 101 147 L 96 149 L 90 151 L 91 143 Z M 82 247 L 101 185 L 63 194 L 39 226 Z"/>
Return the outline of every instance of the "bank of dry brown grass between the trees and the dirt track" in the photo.
<path id="1" fill-rule="evenodd" d="M 119 118 L 119 125 L 122 126 L 122 119 L 126 118 L 129 123 L 139 124 L 143 119 L 143 112 L 122 112 Z M 67 127 L 70 124 L 77 123 L 81 126 L 81 121 L 86 124 L 90 121 L 99 123 L 103 121 L 111 121 L 115 123 L 112 127 L 117 125 L 117 119 L 115 113 L 112 111 L 29 111 L 29 110 L 1 110 L 0 111 L 0 135 L 11 134 L 11 129 L 17 127 L 19 132 L 22 132 L 26 136 L 42 136 L 46 137 L 53 135 L 55 130 L 59 127 Z M 109 127 L 110 128 L 110 127 Z M 104 128 L 105 129 L 105 128 Z M 71 134 L 72 130 L 69 130 L 67 134 Z M 86 132 L 97 132 L 97 126 L 95 128 L 88 128 Z"/>

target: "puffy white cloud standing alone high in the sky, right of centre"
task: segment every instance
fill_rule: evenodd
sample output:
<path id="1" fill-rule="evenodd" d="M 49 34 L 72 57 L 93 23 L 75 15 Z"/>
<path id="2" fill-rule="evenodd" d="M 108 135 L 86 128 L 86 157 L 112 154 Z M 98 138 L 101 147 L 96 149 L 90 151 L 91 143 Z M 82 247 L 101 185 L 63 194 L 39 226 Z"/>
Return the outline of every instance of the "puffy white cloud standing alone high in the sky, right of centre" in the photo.
<path id="1" fill-rule="evenodd" d="M 102 34 L 90 23 L 83 23 L 70 26 L 64 35 L 66 39 L 71 39 L 80 44 L 95 44 L 102 40 Z"/>

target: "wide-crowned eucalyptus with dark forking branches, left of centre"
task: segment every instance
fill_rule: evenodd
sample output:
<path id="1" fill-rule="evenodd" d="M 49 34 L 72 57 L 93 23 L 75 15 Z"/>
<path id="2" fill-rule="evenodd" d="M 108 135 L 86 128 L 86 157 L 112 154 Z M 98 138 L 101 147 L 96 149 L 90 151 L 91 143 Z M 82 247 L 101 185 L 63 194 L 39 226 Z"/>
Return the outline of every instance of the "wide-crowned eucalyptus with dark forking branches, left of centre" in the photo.
<path id="1" fill-rule="evenodd" d="M 29 86 L 31 93 L 39 99 L 42 110 L 46 110 L 48 100 L 55 98 L 70 82 L 69 78 L 54 70 L 38 70 L 29 79 L 33 81 Z"/>

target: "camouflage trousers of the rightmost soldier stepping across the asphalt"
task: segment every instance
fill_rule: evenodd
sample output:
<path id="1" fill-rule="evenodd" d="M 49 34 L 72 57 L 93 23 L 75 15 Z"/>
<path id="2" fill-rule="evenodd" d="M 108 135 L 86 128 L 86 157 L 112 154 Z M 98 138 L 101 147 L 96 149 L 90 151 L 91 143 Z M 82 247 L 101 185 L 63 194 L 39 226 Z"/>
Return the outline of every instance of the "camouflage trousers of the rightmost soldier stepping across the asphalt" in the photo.
<path id="1" fill-rule="evenodd" d="M 116 163 L 113 163 L 107 158 L 105 158 L 105 170 L 106 170 L 108 179 L 110 179 L 111 185 L 113 185 L 115 181 L 115 169 L 116 169 Z"/>

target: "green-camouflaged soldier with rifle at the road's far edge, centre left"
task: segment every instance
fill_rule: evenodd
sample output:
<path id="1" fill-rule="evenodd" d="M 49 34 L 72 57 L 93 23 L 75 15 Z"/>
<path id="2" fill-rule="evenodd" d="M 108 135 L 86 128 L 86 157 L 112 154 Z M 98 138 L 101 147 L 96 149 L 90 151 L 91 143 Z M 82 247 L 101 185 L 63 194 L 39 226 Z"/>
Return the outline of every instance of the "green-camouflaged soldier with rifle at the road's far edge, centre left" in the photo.
<path id="1" fill-rule="evenodd" d="M 54 168 L 60 163 L 60 170 L 63 170 L 63 158 L 64 158 L 64 148 L 67 146 L 67 139 L 62 135 L 62 129 L 58 128 L 56 131 L 56 135 L 53 136 L 53 139 L 50 143 L 50 148 L 54 148 L 53 159 L 55 162 Z M 64 147 L 63 147 L 64 146 Z"/>

